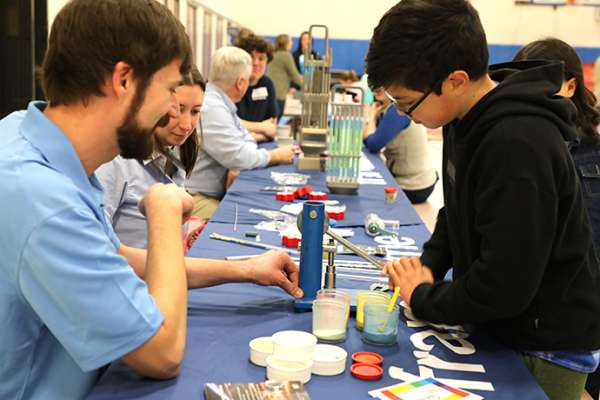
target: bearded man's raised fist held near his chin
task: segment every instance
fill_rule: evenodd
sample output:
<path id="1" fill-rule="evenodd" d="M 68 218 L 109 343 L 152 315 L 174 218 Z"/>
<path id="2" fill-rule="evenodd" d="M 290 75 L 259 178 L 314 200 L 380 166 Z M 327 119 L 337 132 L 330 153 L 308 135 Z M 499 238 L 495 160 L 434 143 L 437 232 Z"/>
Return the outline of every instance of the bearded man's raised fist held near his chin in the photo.
<path id="1" fill-rule="evenodd" d="M 138 208 L 142 215 L 148 217 L 158 209 L 170 208 L 174 212 L 181 213 L 185 218 L 194 209 L 194 199 L 183 188 L 175 184 L 155 183 L 144 193 Z"/>

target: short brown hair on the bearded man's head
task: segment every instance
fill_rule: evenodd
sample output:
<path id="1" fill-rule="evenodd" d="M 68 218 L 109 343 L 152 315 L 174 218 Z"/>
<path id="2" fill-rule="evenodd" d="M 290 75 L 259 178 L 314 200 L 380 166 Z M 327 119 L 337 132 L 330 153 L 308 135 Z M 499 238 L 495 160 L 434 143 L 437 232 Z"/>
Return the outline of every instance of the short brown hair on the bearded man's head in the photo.
<path id="1" fill-rule="evenodd" d="M 155 0 L 71 0 L 52 24 L 42 87 L 51 106 L 104 96 L 106 77 L 123 61 L 143 90 L 175 59 L 189 73 L 191 54 L 183 25 Z"/>

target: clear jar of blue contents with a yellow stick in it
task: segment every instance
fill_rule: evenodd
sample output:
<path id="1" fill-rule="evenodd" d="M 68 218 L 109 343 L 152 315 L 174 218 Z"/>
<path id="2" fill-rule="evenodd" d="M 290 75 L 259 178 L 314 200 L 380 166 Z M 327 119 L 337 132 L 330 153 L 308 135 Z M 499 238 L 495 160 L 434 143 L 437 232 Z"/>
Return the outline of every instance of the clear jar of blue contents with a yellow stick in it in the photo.
<path id="1" fill-rule="evenodd" d="M 361 335 L 363 341 L 380 346 L 396 344 L 400 308 L 396 305 L 391 312 L 387 308 L 387 304 L 365 305 L 365 326 Z"/>

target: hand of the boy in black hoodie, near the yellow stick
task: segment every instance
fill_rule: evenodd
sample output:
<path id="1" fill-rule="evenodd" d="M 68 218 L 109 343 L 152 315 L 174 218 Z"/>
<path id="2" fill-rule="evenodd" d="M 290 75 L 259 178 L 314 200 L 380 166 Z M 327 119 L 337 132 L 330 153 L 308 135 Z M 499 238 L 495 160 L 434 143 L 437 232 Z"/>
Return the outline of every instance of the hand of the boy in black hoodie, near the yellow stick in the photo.
<path id="1" fill-rule="evenodd" d="M 421 264 L 419 257 L 400 257 L 387 263 L 382 275 L 389 275 L 390 288 L 400 287 L 400 296 L 410 305 L 412 293 L 422 283 L 433 283 L 433 274 L 426 265 Z"/>

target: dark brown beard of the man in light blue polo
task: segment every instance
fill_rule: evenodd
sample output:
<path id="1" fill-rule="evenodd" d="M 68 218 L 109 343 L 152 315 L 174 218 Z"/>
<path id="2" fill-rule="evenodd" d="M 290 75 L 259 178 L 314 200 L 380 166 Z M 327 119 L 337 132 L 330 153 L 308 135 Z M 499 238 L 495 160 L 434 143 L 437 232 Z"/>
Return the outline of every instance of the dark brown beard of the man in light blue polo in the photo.
<path id="1" fill-rule="evenodd" d="M 135 158 L 138 161 L 146 160 L 154 151 L 154 130 L 157 126 L 164 127 L 169 123 L 169 114 L 165 114 L 152 128 L 143 128 L 137 121 L 138 111 L 143 103 L 148 82 L 138 87 L 125 122 L 117 128 L 117 141 L 123 158 Z"/>

